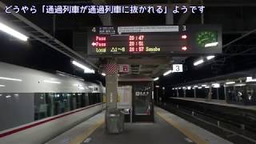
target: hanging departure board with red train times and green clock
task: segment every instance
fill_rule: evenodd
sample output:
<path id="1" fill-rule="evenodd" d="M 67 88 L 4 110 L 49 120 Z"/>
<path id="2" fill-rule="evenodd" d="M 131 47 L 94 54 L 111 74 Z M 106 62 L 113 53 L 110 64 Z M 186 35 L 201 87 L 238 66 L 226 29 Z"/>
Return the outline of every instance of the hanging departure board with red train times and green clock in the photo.
<path id="1" fill-rule="evenodd" d="M 220 54 L 220 26 L 91 27 L 87 54 Z"/>

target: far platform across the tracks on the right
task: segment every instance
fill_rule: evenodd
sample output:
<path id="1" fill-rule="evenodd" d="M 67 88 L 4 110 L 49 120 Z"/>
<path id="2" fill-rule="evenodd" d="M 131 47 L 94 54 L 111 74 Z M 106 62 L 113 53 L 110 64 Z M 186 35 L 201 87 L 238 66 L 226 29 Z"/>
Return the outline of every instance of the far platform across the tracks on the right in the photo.
<path id="1" fill-rule="evenodd" d="M 238 108 L 238 109 L 256 111 L 256 106 L 235 105 L 235 104 L 227 103 L 224 100 L 212 99 L 211 101 L 207 101 L 205 98 L 174 98 L 174 99 L 190 101 L 190 102 L 202 102 L 202 103 L 206 103 L 206 104 L 213 104 L 213 105 L 218 105 L 218 106 L 227 106 L 227 107 L 233 107 L 233 108 Z"/>

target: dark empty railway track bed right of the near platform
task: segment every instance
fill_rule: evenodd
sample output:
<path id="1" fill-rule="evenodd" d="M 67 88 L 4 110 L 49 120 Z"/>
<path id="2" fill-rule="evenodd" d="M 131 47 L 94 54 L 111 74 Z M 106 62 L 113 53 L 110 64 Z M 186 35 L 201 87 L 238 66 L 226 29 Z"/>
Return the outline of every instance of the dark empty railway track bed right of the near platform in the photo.
<path id="1" fill-rule="evenodd" d="M 235 144 L 256 144 L 256 134 L 245 124 L 222 118 L 222 115 L 206 113 L 204 110 L 194 110 L 171 102 L 158 103 L 161 107 L 189 122 L 196 124 Z"/>

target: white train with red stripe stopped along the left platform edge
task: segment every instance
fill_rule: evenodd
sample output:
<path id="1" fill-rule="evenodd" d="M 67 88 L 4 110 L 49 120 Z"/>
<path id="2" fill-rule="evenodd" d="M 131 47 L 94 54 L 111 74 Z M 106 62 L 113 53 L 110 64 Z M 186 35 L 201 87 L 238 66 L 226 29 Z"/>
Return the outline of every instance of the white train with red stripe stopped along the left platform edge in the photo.
<path id="1" fill-rule="evenodd" d="M 97 114 L 105 87 L 0 62 L 0 143 L 44 143 Z"/>

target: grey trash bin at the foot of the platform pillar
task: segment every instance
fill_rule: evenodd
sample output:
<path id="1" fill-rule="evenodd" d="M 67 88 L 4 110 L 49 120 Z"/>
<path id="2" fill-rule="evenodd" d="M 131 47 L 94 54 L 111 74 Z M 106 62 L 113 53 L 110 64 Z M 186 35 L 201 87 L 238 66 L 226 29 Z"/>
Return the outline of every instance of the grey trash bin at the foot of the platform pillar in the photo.
<path id="1" fill-rule="evenodd" d="M 121 110 L 111 110 L 107 114 L 107 131 L 109 134 L 120 134 L 124 130 L 124 114 Z"/>

